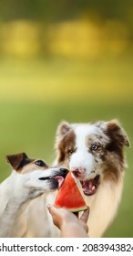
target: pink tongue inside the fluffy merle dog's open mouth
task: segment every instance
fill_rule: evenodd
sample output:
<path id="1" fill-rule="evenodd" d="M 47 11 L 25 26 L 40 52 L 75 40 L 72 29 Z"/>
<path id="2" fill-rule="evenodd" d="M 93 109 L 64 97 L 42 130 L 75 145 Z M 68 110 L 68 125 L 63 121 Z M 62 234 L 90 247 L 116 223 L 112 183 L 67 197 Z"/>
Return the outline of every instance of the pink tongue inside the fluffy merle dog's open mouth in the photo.
<path id="1" fill-rule="evenodd" d="M 84 194 L 87 196 L 91 196 L 95 193 L 96 187 L 94 185 L 94 180 L 90 179 L 82 182 L 82 187 L 84 188 Z"/>

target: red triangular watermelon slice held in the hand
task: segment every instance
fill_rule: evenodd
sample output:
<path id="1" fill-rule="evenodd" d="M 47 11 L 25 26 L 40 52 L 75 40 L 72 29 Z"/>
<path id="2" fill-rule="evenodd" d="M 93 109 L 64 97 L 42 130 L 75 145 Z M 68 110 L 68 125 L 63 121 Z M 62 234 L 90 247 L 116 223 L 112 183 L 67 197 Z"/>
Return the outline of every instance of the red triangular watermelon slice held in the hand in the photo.
<path id="1" fill-rule="evenodd" d="M 55 206 L 57 208 L 67 208 L 72 212 L 87 209 L 86 202 L 77 187 L 77 182 L 70 172 L 58 189 Z"/>

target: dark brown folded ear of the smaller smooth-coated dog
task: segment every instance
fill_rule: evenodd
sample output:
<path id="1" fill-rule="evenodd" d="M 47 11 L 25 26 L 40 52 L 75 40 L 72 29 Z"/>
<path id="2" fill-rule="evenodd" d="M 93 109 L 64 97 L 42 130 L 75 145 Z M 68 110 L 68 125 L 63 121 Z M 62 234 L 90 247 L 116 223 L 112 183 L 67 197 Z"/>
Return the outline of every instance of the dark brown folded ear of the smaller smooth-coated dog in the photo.
<path id="1" fill-rule="evenodd" d="M 31 160 L 28 158 L 26 153 L 19 153 L 16 155 L 6 155 L 7 163 L 12 165 L 14 170 L 18 170 L 19 168 L 23 167 L 27 163 L 30 163 Z"/>

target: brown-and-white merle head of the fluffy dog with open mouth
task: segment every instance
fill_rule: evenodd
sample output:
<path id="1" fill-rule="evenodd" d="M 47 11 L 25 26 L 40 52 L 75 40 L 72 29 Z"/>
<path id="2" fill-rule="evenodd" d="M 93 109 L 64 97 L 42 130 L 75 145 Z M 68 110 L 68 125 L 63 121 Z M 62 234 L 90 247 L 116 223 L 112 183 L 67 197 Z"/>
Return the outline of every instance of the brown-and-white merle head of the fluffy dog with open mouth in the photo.
<path id="1" fill-rule="evenodd" d="M 116 120 L 61 123 L 56 133 L 58 163 L 65 163 L 91 196 L 103 180 L 118 181 L 125 166 L 128 136 Z"/>

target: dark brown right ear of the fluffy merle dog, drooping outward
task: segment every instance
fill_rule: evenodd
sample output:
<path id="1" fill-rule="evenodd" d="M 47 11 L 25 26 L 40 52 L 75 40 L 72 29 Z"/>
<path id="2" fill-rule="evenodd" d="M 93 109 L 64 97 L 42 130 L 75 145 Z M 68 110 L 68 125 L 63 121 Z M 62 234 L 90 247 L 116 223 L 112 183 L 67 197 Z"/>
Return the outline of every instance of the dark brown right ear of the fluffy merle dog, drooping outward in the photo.
<path id="1" fill-rule="evenodd" d="M 123 130 L 116 119 L 107 122 L 107 134 L 112 141 L 116 141 L 118 144 L 126 146 L 130 145 L 127 133 Z"/>

